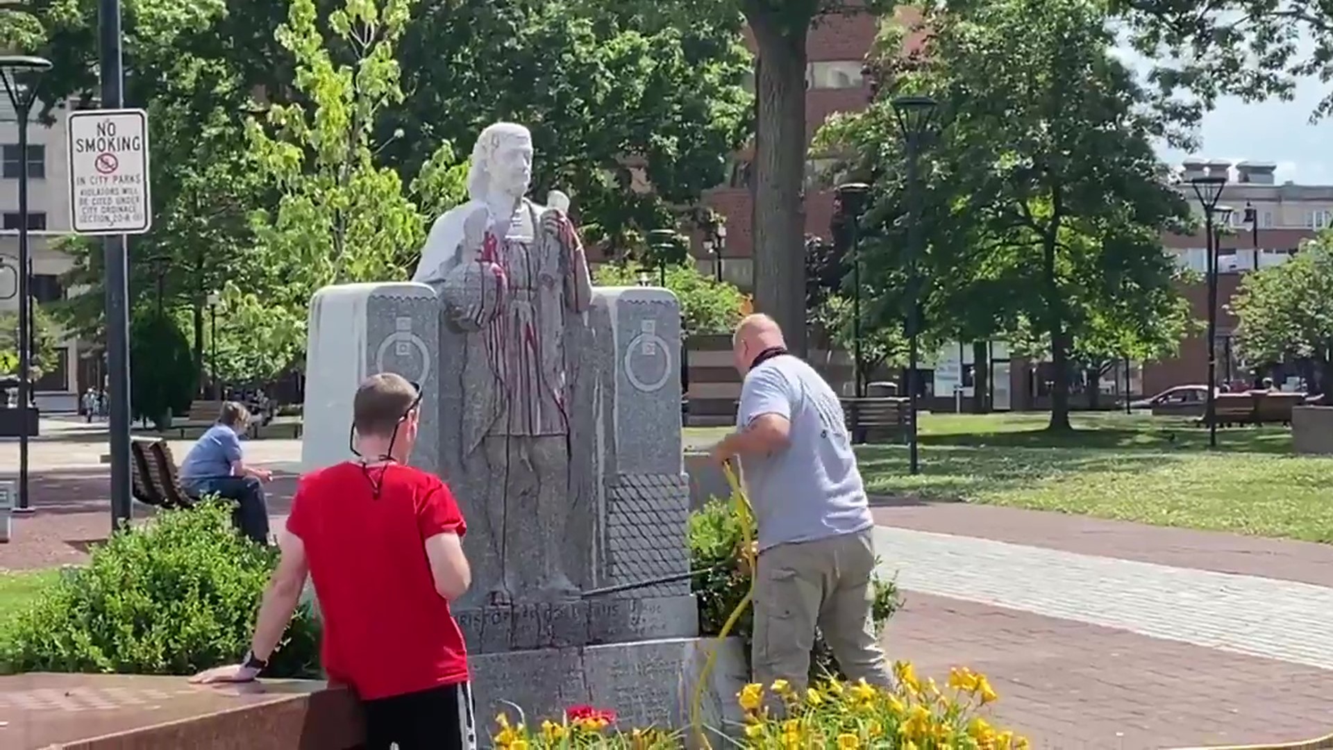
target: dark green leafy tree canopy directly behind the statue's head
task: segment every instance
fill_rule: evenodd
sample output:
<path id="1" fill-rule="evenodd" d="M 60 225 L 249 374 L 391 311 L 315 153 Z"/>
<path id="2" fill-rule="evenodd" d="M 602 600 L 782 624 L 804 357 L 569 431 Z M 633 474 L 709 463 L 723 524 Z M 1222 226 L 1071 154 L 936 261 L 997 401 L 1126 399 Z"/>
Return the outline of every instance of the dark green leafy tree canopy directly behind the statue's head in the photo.
<path id="1" fill-rule="evenodd" d="M 383 159 L 411 172 L 440 143 L 524 123 L 535 195 L 568 192 L 585 242 L 624 255 L 722 181 L 749 120 L 738 15 L 681 20 L 633 1 L 424 3 L 399 53 L 412 96 L 380 125 L 404 136 Z"/>

